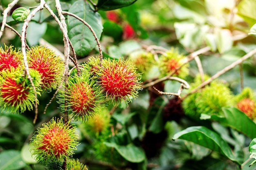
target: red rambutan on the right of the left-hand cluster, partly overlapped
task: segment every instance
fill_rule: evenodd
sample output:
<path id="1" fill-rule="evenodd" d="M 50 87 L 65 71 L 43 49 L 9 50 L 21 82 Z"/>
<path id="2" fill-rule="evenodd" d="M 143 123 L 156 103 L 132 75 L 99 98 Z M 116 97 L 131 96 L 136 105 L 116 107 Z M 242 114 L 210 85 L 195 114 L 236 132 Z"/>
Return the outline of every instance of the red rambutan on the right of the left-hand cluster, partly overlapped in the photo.
<path id="1" fill-rule="evenodd" d="M 29 68 L 38 71 L 42 77 L 42 89 L 51 91 L 58 88 L 63 77 L 64 62 L 46 46 L 34 46 L 27 51 Z"/>

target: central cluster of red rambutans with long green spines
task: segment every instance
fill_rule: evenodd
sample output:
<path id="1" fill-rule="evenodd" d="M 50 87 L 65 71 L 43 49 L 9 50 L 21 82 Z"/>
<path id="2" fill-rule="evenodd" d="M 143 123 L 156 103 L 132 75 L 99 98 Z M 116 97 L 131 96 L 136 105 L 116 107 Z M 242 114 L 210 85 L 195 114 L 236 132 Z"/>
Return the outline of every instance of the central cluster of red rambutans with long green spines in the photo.
<path id="1" fill-rule="evenodd" d="M 106 101 L 114 106 L 131 102 L 141 90 L 139 80 L 140 74 L 129 61 L 90 57 L 80 76 L 70 75 L 66 91 L 60 91 L 57 98 L 63 111 L 85 122 L 99 113 Z"/>

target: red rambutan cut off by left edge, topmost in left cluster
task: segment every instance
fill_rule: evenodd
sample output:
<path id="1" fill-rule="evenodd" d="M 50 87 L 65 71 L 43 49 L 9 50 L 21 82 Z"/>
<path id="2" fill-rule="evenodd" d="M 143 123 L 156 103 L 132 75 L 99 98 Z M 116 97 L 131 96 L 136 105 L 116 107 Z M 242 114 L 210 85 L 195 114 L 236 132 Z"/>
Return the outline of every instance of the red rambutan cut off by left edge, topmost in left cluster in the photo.
<path id="1" fill-rule="evenodd" d="M 4 45 L 4 49 L 0 48 L 0 71 L 10 70 L 12 68 L 18 68 L 23 66 L 22 53 L 16 51 L 13 46 Z"/>

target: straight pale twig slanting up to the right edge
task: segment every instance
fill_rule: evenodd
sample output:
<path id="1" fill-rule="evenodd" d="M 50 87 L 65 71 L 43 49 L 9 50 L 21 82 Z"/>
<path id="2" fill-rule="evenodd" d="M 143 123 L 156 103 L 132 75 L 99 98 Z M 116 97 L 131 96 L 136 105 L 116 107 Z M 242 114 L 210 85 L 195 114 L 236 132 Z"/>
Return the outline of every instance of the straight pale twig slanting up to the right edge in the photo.
<path id="1" fill-rule="evenodd" d="M 196 87 L 194 90 L 192 90 L 190 93 L 188 93 L 185 97 L 187 97 L 188 95 L 197 92 L 200 88 L 204 87 L 205 85 L 209 84 L 210 82 L 212 82 L 214 79 L 220 77 L 222 74 L 227 73 L 229 70 L 231 70 L 232 68 L 234 68 L 235 66 L 237 66 L 238 64 L 244 62 L 245 60 L 247 60 L 249 57 L 252 57 L 252 55 L 256 54 L 256 49 L 250 51 L 249 53 L 247 53 L 246 55 L 244 55 L 242 58 L 240 58 L 239 60 L 236 60 L 235 62 L 231 63 L 229 66 L 223 68 L 221 71 L 218 71 L 215 75 L 213 75 L 211 78 L 207 79 L 205 82 L 203 82 L 202 84 L 200 84 L 198 87 Z M 184 97 L 184 98 L 185 98 Z"/>

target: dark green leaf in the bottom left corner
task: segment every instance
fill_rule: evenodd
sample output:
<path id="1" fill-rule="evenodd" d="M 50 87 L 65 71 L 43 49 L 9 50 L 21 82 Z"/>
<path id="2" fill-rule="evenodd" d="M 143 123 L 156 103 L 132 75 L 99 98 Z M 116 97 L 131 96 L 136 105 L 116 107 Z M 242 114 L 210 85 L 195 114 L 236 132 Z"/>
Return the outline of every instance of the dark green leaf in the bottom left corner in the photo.
<path id="1" fill-rule="evenodd" d="M 0 153 L 0 170 L 19 170 L 25 166 L 26 163 L 21 159 L 20 151 L 5 150 Z"/>

